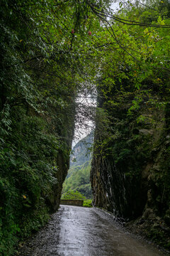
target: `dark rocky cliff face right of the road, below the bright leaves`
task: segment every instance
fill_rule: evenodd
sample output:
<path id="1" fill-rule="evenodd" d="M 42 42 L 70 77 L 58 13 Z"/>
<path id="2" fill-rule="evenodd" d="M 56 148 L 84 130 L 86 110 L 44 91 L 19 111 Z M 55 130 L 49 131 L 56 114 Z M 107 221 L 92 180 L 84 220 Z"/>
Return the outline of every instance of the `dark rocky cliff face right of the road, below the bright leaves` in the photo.
<path id="1" fill-rule="evenodd" d="M 140 97 L 137 110 L 130 113 L 134 96 L 124 97 L 118 107 L 98 99 L 98 112 L 102 109 L 107 122 L 98 118 L 96 125 L 91 168 L 94 206 L 126 220 L 140 216 L 159 227 L 155 235 L 169 230 L 170 224 L 169 104 L 153 107 L 153 93 L 152 101 Z"/>

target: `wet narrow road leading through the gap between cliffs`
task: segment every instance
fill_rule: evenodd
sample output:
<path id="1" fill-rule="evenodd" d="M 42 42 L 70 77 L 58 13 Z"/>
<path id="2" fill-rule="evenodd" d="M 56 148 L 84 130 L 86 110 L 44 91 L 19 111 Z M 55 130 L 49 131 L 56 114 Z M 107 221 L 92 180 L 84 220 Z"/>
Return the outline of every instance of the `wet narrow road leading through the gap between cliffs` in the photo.
<path id="1" fill-rule="evenodd" d="M 22 256 L 162 256 L 125 233 L 95 208 L 61 206 L 47 226 L 23 247 Z"/>

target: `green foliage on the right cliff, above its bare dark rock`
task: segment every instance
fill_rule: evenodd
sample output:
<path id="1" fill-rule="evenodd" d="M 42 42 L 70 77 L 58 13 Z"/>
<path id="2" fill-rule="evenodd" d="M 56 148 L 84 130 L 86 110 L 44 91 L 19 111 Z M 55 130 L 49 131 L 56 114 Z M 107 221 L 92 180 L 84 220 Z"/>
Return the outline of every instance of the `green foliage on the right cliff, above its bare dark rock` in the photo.
<path id="1" fill-rule="evenodd" d="M 146 23 L 149 18 L 157 26 L 170 23 L 167 15 L 169 7 L 162 9 L 159 3 L 150 9 L 145 6 L 123 9 L 118 17 L 123 21 L 135 17 L 139 23 Z M 141 165 L 149 159 L 152 149 L 162 143 L 162 133 L 169 136 L 169 28 L 136 27 L 127 23 L 120 26 L 117 21 L 107 36 L 109 46 L 103 54 L 98 78 L 96 118 L 100 139 L 96 152 L 103 157 L 113 156 L 112 161 L 123 169 L 125 176 L 135 178 L 132 186 L 137 186 Z M 108 50 L 111 45 L 112 50 Z M 169 159 L 169 149 L 166 154 Z M 161 174 L 160 180 L 163 177 Z M 161 182 L 164 188 L 159 189 L 167 190 L 162 198 L 167 208 L 169 178 Z"/>

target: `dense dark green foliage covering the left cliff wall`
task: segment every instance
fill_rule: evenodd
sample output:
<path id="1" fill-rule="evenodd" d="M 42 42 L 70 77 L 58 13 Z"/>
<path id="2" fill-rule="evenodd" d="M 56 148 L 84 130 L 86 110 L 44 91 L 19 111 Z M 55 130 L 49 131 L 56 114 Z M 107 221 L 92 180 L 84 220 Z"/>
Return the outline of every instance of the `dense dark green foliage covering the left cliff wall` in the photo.
<path id="1" fill-rule="evenodd" d="M 71 1 L 1 1 L 1 255 L 58 207 L 83 76 L 78 50 L 95 22 L 86 11 Z"/>

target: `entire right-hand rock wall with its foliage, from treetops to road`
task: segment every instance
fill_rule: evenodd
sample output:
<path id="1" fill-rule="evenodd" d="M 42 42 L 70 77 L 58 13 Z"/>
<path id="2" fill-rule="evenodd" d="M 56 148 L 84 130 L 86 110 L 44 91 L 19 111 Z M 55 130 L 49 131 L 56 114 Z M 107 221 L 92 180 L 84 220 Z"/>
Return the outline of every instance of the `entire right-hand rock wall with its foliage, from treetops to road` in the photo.
<path id="1" fill-rule="evenodd" d="M 149 4 L 120 10 L 103 31 L 92 189 L 96 206 L 142 216 L 169 247 L 169 2 Z"/>

